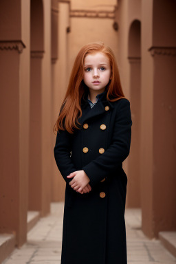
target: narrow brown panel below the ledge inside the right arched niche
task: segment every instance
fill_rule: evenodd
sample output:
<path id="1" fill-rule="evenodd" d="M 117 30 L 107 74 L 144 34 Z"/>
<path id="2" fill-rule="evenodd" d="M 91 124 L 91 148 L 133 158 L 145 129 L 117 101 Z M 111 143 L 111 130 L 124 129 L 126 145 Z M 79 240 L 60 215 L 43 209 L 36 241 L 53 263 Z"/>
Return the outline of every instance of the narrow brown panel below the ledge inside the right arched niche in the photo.
<path id="1" fill-rule="evenodd" d="M 140 118 L 141 118 L 141 59 L 129 57 L 130 63 L 130 98 L 131 98 L 131 153 L 129 156 L 129 183 L 127 204 L 130 208 L 141 206 L 141 177 L 140 177 Z"/>

